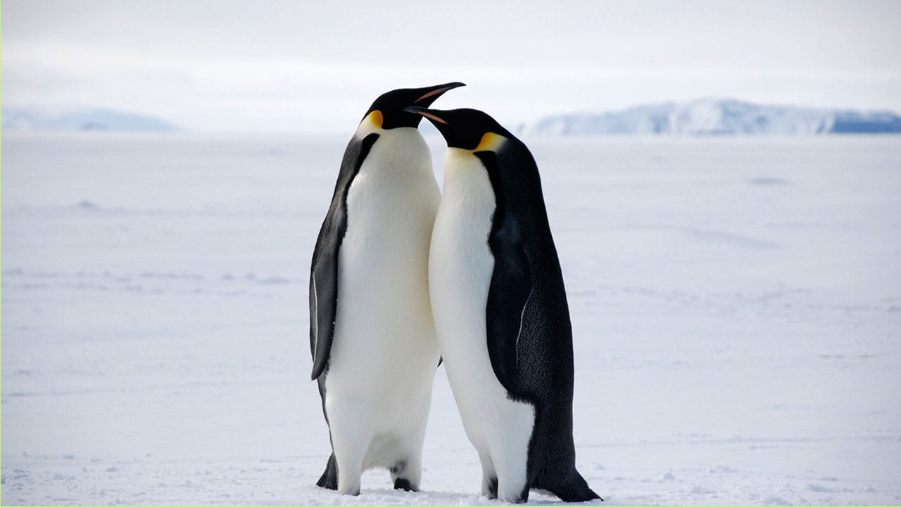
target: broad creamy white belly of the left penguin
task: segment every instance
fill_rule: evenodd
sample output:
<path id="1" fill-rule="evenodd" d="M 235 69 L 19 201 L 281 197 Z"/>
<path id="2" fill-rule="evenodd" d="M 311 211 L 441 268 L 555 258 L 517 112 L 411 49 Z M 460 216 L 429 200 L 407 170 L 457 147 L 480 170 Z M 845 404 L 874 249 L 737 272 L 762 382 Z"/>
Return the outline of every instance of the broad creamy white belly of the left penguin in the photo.
<path id="1" fill-rule="evenodd" d="M 408 128 L 385 131 L 348 191 L 325 406 L 332 434 L 341 425 L 369 435 L 365 467 L 394 465 L 390 449 L 419 438 L 428 417 L 439 357 L 428 254 L 439 200 L 428 148 Z"/>

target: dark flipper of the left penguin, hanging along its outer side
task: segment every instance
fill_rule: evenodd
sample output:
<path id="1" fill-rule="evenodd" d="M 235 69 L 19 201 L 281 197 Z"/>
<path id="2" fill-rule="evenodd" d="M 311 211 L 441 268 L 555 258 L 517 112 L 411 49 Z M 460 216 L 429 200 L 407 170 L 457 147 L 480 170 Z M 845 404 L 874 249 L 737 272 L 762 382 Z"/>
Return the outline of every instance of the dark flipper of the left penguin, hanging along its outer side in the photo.
<path id="1" fill-rule="evenodd" d="M 325 371 L 332 351 L 335 316 L 338 304 L 338 253 L 347 232 L 347 193 L 350 183 L 357 176 L 360 166 L 369 155 L 378 134 L 369 134 L 362 140 L 354 137 L 344 151 L 341 171 L 332 194 L 332 204 L 319 229 L 310 268 L 310 352 L 313 355 L 313 373 L 316 380 Z"/>

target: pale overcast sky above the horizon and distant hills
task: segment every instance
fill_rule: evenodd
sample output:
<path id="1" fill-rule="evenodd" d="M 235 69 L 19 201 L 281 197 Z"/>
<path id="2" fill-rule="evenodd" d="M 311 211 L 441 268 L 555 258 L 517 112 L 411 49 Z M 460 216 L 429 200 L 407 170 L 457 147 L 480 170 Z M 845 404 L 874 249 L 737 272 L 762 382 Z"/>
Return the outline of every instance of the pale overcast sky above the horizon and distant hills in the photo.
<path id="1" fill-rule="evenodd" d="M 392 88 L 502 123 L 695 97 L 901 111 L 901 2 L 3 2 L 4 106 L 350 131 Z"/>

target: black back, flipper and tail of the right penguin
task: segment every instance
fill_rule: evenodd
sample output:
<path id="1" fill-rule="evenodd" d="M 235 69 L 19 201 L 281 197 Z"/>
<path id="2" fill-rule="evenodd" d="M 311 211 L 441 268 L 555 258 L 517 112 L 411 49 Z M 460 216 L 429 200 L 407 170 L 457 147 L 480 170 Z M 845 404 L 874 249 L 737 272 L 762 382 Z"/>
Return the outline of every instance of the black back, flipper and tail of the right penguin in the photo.
<path id="1" fill-rule="evenodd" d="M 487 349 L 508 396 L 535 408 L 529 484 L 567 502 L 599 498 L 575 467 L 572 326 L 537 164 L 513 135 L 497 152 L 475 155 L 496 199 L 487 238 L 495 258 Z"/>

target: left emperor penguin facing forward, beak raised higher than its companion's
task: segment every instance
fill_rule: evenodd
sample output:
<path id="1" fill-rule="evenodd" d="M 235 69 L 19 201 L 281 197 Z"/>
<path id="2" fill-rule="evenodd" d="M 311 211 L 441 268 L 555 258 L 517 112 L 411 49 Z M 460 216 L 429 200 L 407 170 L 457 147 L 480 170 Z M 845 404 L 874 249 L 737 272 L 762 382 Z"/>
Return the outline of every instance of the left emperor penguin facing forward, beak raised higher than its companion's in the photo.
<path id="1" fill-rule="evenodd" d="M 310 270 L 310 351 L 332 456 L 316 483 L 359 494 L 369 468 L 418 491 L 439 364 L 428 289 L 441 199 L 432 156 L 406 106 L 464 86 L 378 97 L 350 139 Z"/>

